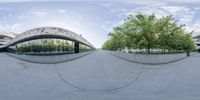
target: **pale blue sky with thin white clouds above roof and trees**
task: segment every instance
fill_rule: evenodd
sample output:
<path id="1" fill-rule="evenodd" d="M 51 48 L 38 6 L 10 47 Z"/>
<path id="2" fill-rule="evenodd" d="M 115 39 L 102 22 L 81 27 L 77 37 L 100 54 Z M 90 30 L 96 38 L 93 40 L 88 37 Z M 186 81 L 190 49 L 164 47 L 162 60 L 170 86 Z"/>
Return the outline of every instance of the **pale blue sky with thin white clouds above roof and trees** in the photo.
<path id="1" fill-rule="evenodd" d="M 194 36 L 200 35 L 200 0 L 0 0 L 0 32 L 55 26 L 100 48 L 114 27 L 138 12 L 158 18 L 173 15 Z"/>

